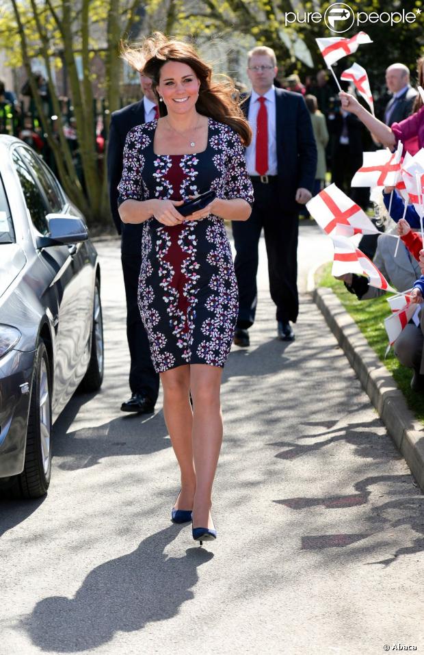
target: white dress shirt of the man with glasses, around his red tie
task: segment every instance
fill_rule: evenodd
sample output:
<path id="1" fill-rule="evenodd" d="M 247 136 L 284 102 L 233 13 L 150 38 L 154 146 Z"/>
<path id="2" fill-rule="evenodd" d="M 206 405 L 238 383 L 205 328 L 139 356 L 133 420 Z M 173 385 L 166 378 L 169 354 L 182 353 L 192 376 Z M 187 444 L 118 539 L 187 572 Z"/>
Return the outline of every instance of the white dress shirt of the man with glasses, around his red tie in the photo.
<path id="1" fill-rule="evenodd" d="M 261 103 L 259 94 L 252 90 L 249 104 L 248 121 L 252 128 L 252 143 L 246 148 L 246 165 L 249 175 L 259 175 L 256 170 L 256 119 Z M 265 175 L 277 175 L 277 142 L 276 142 L 276 89 L 275 86 L 263 94 L 268 114 L 268 170 Z"/>

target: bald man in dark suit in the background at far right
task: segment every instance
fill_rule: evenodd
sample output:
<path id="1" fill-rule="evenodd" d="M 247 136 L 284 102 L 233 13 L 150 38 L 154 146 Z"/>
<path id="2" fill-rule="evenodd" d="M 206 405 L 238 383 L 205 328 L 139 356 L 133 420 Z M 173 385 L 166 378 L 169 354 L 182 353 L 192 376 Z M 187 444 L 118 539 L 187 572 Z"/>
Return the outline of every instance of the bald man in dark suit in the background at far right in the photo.
<path id="1" fill-rule="evenodd" d="M 409 69 L 405 64 L 391 64 L 386 69 L 386 86 L 392 95 L 384 111 L 384 123 L 390 127 L 408 118 L 416 98 L 416 90 L 409 83 Z"/>

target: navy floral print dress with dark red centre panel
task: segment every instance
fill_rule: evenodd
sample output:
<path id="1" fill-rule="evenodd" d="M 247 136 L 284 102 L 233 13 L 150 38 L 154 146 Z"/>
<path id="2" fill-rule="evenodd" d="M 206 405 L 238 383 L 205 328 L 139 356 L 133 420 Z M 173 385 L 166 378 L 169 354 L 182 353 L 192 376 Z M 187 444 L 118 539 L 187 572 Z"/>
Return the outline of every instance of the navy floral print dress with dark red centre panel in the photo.
<path id="1" fill-rule="evenodd" d="M 129 198 L 188 200 L 209 189 L 218 198 L 244 198 L 252 204 L 243 146 L 233 129 L 209 118 L 205 151 L 156 155 L 156 127 L 153 120 L 128 133 L 119 204 Z M 184 364 L 223 367 L 238 313 L 224 220 L 210 214 L 172 227 L 146 220 L 138 299 L 157 372 Z"/>

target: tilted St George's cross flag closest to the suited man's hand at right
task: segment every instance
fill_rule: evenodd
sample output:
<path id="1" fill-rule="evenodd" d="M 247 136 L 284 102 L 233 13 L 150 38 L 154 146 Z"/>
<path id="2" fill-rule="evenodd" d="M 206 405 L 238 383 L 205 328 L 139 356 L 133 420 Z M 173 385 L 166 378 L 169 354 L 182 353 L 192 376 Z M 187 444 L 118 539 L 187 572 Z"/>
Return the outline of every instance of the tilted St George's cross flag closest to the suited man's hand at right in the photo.
<path id="1" fill-rule="evenodd" d="M 306 208 L 327 234 L 378 234 L 365 211 L 334 183 L 306 203 Z"/>

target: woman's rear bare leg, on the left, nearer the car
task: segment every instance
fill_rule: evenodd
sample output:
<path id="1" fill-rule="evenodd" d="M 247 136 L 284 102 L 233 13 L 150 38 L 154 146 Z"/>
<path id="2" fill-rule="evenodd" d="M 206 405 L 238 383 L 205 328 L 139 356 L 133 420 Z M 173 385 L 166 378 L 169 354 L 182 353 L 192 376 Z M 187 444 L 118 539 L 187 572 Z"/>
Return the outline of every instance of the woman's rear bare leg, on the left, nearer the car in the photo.
<path id="1" fill-rule="evenodd" d="M 189 402 L 190 367 L 178 366 L 160 374 L 163 387 L 163 415 L 170 433 L 172 448 L 181 471 L 181 493 L 175 509 L 193 507 L 196 491 L 191 433 L 193 413 Z"/>

